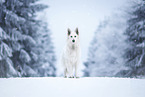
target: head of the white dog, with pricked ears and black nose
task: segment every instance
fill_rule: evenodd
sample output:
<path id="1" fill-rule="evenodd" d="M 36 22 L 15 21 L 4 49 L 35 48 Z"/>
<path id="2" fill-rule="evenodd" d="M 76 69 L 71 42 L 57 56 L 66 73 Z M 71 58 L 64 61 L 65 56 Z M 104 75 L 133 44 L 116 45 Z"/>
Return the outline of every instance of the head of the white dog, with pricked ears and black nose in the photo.
<path id="1" fill-rule="evenodd" d="M 79 41 L 79 31 L 78 28 L 76 28 L 76 30 L 74 32 L 72 32 L 69 28 L 68 28 L 68 41 L 71 44 L 77 44 Z"/>

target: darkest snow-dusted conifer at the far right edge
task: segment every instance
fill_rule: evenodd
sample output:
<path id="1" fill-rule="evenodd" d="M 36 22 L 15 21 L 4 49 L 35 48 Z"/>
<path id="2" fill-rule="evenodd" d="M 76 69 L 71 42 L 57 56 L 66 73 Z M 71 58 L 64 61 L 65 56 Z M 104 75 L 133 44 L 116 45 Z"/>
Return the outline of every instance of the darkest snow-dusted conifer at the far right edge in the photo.
<path id="1" fill-rule="evenodd" d="M 126 34 L 131 46 L 126 53 L 127 65 L 130 68 L 125 76 L 145 76 L 145 1 L 132 3 Z"/>

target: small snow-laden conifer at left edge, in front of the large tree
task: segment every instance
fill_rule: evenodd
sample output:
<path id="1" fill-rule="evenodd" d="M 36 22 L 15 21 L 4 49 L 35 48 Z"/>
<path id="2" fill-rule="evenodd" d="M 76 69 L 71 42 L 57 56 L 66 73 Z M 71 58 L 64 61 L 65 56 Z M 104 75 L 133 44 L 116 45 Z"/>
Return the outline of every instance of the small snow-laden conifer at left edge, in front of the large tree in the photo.
<path id="1" fill-rule="evenodd" d="M 18 76 L 10 57 L 12 49 L 6 40 L 10 40 L 9 35 L 0 27 L 0 77 Z"/>

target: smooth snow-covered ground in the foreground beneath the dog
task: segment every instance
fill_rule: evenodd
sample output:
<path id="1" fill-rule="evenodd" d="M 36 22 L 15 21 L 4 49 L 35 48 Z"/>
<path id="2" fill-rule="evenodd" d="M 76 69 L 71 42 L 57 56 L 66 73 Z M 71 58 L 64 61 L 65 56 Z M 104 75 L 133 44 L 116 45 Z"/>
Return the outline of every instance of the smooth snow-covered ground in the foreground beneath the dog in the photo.
<path id="1" fill-rule="evenodd" d="M 145 97 L 145 79 L 1 78 L 0 97 Z"/>

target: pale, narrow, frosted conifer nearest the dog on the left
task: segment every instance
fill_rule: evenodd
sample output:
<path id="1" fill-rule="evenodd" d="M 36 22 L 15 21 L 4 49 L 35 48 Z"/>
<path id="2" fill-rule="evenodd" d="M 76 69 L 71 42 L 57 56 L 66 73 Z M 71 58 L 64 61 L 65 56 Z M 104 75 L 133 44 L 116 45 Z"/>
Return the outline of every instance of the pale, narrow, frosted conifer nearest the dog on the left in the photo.
<path id="1" fill-rule="evenodd" d="M 39 62 L 35 64 L 35 70 L 40 74 L 40 76 L 56 76 L 55 61 L 56 57 L 54 55 L 54 47 L 52 45 L 50 31 L 47 28 L 47 23 L 41 22 L 41 28 L 39 29 L 38 36 L 40 37 L 36 42 L 38 44 L 38 57 Z M 43 45 L 42 45 L 43 44 Z"/>

